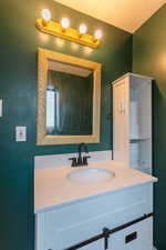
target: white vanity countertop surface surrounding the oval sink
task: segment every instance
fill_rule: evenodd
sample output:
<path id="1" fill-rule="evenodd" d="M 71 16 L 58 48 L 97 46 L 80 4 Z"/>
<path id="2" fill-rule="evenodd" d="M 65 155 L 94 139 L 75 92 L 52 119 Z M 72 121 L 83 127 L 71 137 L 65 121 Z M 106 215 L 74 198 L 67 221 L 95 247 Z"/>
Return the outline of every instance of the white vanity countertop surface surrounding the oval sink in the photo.
<path id="1" fill-rule="evenodd" d="M 110 169 L 114 171 L 115 178 L 111 181 L 76 183 L 68 179 L 66 174 L 79 168 L 68 166 L 37 169 L 34 177 L 34 212 L 39 213 L 53 208 L 62 208 L 77 200 L 91 199 L 107 192 L 157 181 L 156 178 L 149 174 L 123 167 L 115 161 L 93 162 L 89 164 L 89 168 L 91 167 Z"/>

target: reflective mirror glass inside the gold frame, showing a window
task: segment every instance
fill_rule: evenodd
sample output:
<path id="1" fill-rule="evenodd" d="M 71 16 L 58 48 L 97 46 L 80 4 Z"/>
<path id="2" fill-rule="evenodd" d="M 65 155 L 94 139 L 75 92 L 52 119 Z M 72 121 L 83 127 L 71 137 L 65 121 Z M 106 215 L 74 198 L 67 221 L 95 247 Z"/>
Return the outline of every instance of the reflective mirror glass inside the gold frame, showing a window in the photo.
<path id="1" fill-rule="evenodd" d="M 93 133 L 93 71 L 49 60 L 46 84 L 46 134 Z"/>

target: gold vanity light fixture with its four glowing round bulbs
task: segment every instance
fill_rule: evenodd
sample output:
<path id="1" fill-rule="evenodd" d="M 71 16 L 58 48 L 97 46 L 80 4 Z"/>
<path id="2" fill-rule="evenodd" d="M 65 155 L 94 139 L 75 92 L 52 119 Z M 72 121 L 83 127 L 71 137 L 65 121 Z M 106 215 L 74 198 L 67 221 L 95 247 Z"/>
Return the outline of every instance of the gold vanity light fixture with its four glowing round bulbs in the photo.
<path id="1" fill-rule="evenodd" d="M 94 36 L 87 33 L 86 24 L 82 23 L 79 30 L 70 27 L 70 20 L 62 18 L 61 22 L 51 20 L 51 12 L 48 9 L 42 10 L 42 17 L 35 21 L 37 28 L 44 33 L 60 37 L 79 44 L 90 48 L 97 48 L 101 43 L 102 30 L 96 30 Z"/>

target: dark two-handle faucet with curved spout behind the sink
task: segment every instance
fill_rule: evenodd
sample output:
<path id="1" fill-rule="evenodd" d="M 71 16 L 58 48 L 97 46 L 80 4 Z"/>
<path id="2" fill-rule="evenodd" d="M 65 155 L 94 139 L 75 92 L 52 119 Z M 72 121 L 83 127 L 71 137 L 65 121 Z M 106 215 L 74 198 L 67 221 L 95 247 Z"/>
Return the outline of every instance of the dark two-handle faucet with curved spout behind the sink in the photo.
<path id="1" fill-rule="evenodd" d="M 85 156 L 82 157 L 82 149 L 84 148 L 84 152 L 85 152 Z M 72 160 L 72 166 L 71 167 L 80 167 L 80 166 L 87 166 L 87 159 L 90 158 L 89 156 L 89 150 L 87 150 L 87 146 L 82 142 L 79 144 L 79 148 L 77 148 L 77 152 L 79 152 L 79 157 L 75 158 L 70 158 L 69 160 Z"/>

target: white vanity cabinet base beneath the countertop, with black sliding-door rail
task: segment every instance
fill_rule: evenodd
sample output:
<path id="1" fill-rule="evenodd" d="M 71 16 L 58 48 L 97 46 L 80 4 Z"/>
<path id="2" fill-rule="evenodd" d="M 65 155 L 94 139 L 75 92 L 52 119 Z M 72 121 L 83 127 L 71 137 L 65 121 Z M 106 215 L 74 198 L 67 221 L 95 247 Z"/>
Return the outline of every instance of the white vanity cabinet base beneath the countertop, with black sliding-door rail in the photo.
<path id="1" fill-rule="evenodd" d="M 45 208 L 35 214 L 35 250 L 64 250 L 153 212 L 153 183 L 133 186 Z M 126 236 L 136 239 L 126 243 Z M 153 218 L 111 234 L 108 250 L 153 250 Z M 81 250 L 104 250 L 104 239 Z"/>

